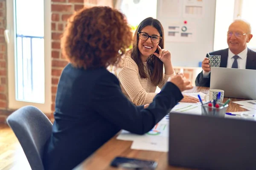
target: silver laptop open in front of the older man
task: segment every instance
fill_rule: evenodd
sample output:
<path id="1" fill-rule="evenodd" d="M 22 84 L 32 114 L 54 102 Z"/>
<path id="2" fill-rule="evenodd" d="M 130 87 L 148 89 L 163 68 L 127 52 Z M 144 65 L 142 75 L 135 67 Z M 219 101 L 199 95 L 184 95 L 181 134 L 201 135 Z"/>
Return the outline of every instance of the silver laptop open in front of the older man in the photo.
<path id="1" fill-rule="evenodd" d="M 256 99 L 256 70 L 211 68 L 210 89 L 224 90 L 225 97 Z"/>

